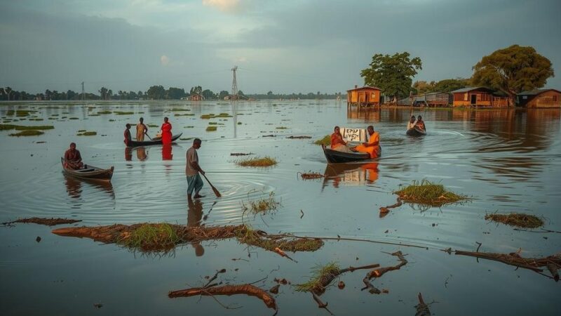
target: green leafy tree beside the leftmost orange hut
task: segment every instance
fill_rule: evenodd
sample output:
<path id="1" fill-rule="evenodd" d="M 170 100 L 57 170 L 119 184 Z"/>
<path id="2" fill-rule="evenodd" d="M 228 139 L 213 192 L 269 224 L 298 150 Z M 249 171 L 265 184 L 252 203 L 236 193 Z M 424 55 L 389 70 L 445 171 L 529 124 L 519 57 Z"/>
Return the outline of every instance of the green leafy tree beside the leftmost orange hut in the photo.
<path id="1" fill-rule="evenodd" d="M 360 71 L 367 86 L 376 86 L 393 98 L 409 96 L 412 77 L 422 69 L 421 58 L 410 58 L 409 53 L 393 55 L 375 54 L 372 56 L 370 68 Z"/>

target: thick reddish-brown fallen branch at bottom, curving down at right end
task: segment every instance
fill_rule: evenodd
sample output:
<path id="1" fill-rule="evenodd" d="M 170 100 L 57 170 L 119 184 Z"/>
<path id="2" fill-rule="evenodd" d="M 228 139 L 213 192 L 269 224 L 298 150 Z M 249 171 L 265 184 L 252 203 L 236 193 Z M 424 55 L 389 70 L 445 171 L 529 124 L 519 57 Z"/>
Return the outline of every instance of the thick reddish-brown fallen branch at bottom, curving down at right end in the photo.
<path id="1" fill-rule="evenodd" d="M 177 291 L 170 291 L 168 293 L 169 298 L 177 297 L 189 297 L 189 296 L 215 296 L 215 295 L 236 295 L 245 294 L 248 296 L 255 296 L 265 303 L 266 307 L 275 310 L 275 314 L 278 312 L 278 306 L 276 305 L 275 299 L 266 293 L 266 291 L 259 289 L 251 284 L 240 284 L 240 285 L 223 285 L 222 287 L 194 287 L 191 289 L 182 289 Z"/>

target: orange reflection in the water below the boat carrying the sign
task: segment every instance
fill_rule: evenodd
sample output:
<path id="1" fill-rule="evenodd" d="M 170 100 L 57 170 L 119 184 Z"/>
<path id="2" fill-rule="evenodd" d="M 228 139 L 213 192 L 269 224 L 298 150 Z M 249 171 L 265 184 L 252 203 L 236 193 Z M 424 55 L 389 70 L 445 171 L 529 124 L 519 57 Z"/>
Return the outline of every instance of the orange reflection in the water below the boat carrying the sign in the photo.
<path id="1" fill-rule="evenodd" d="M 377 162 L 366 164 L 327 164 L 324 172 L 323 187 L 331 182 L 333 187 L 344 185 L 360 185 L 374 183 L 378 180 L 379 169 Z"/>

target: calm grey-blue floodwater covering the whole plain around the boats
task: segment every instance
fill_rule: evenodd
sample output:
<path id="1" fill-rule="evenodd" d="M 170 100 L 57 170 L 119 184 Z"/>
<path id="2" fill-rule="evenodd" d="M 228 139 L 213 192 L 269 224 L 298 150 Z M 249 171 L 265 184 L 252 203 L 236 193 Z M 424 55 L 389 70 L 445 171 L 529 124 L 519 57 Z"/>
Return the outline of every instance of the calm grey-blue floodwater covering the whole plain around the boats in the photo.
<path id="1" fill-rule="evenodd" d="M 11 117 L 8 110 L 37 110 L 30 117 L 43 121 Z M 134 114 L 90 115 L 104 110 Z M 232 117 L 200 119 L 210 113 Z M 544 218 L 544 228 L 561 230 L 561 110 L 415 109 L 414 114 L 423 115 L 427 136 L 405 136 L 408 108 L 348 112 L 346 103 L 335 101 L 0 105 L 4 123 L 55 126 L 41 136 L 20 138 L 8 136 L 13 131 L 0 131 L 1 222 L 38 216 L 76 218 L 83 220 L 77 225 L 88 226 L 246 223 L 269 233 L 386 243 L 327 240 L 318 251 L 289 253 L 297 263 L 234 239 L 187 244 L 172 254 L 149 256 L 115 244 L 53 235 L 53 228 L 43 225 L 15 224 L 0 227 L 0 314 L 272 315 L 251 296 L 217 296 L 227 309 L 212 297 L 172 299 L 167 294 L 201 287 L 205 276 L 222 268 L 227 272 L 219 281 L 243 284 L 266 277 L 255 285 L 270 289 L 275 278 L 306 282 L 311 269 L 330 262 L 342 268 L 396 265 L 396 257 L 386 253 L 400 250 L 407 254 L 407 265 L 372 280 L 387 294 L 360 291 L 367 270 L 357 270 L 336 279 L 334 284 L 342 280 L 346 287 L 329 287 L 322 301 L 334 315 L 414 315 L 421 292 L 427 303 L 436 302 L 429 306 L 435 315 L 558 315 L 561 285 L 553 279 L 440 249 L 475 251 L 479 242 L 479 251 L 522 249 L 525 257 L 561 251 L 559 233 L 513 230 L 484 219 L 486 213 L 525 212 Z M 124 126 L 141 116 L 146 124 L 158 126 L 168 116 L 173 133 L 203 139 L 200 164 L 221 198 L 205 182 L 205 197 L 187 203 L 184 167 L 191 140 L 179 140 L 170 150 L 126 149 Z M 205 131 L 209 121 L 217 123 L 217 131 Z M 313 145 L 335 125 L 370 124 L 379 131 L 384 148 L 376 162 L 330 166 Z M 97 135 L 76 136 L 79 130 Z M 149 127 L 149 135 L 157 130 Z M 134 126 L 131 131 L 134 135 Z M 270 135 L 276 137 L 263 137 Z M 60 157 L 72 141 L 86 164 L 115 167 L 111 184 L 62 174 Z M 236 166 L 243 157 L 231 157 L 231 152 L 270 156 L 278 165 Z M 299 172 L 309 171 L 327 177 L 299 178 Z M 396 202 L 393 191 L 422 179 L 473 199 L 429 209 L 403 204 L 379 217 L 379 207 Z M 276 210 L 257 216 L 243 213 L 243 204 L 271 192 L 280 202 Z M 243 260 L 232 260 L 238 258 Z M 280 287 L 276 301 L 278 315 L 328 315 L 310 294 L 290 285 Z"/>

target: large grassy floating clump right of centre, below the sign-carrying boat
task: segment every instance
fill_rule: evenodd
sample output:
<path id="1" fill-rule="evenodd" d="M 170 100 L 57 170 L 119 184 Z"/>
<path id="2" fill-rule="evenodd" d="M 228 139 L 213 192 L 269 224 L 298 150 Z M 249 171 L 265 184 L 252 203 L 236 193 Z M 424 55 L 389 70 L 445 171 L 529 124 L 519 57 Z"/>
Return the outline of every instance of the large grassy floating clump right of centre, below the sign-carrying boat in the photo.
<path id="1" fill-rule="evenodd" d="M 426 179 L 422 180 L 421 183 L 414 180 L 412 185 L 394 193 L 398 195 L 403 202 L 430 206 L 442 206 L 444 204 L 468 199 L 465 195 L 457 195 L 454 192 L 449 192 L 445 190 L 444 185 L 431 183 Z"/>

